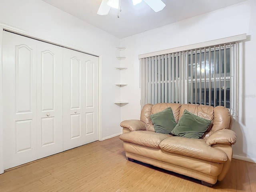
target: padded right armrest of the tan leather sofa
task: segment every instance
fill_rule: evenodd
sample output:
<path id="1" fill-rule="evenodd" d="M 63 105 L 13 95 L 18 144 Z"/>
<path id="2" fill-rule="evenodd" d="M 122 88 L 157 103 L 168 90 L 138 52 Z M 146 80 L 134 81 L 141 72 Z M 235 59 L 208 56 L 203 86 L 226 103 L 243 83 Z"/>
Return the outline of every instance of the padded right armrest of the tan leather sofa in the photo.
<path id="1" fill-rule="evenodd" d="M 233 145 L 236 143 L 236 133 L 230 129 L 222 129 L 212 133 L 206 140 L 210 146 L 215 144 Z"/>

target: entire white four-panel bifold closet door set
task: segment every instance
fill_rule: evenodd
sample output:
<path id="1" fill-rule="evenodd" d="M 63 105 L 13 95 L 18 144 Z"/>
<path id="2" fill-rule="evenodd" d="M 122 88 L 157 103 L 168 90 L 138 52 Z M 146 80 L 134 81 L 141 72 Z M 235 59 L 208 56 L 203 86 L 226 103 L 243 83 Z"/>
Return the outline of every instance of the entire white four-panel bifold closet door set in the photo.
<path id="1" fill-rule="evenodd" d="M 98 57 L 2 40 L 4 169 L 98 140 Z"/>

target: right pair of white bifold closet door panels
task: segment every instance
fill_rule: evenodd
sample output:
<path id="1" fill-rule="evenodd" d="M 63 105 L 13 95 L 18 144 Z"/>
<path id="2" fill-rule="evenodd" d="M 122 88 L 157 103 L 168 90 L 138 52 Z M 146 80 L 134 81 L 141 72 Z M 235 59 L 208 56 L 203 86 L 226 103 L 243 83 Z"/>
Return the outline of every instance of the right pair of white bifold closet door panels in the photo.
<path id="1" fill-rule="evenodd" d="M 63 50 L 63 148 L 98 140 L 98 57 Z"/>

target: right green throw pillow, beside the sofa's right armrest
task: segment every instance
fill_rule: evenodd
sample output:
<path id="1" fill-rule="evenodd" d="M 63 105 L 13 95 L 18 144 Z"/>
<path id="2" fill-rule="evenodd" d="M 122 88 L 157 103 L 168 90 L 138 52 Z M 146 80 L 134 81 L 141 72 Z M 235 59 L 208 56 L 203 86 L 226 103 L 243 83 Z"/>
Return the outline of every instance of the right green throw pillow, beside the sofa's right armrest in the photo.
<path id="1" fill-rule="evenodd" d="M 211 122 L 211 120 L 198 117 L 185 109 L 171 133 L 180 137 L 199 139 L 206 132 Z"/>

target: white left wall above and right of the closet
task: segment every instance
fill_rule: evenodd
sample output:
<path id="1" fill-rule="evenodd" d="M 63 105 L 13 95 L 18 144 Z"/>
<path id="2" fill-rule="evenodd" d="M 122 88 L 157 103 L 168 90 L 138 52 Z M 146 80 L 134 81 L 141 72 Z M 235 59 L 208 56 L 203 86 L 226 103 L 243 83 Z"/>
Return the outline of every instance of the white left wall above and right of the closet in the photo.
<path id="1" fill-rule="evenodd" d="M 79 20 L 41 0 L 0 0 L 0 23 L 19 28 L 43 39 L 74 46 L 102 56 L 102 138 L 119 134 L 120 72 L 114 69 L 120 39 Z"/>

